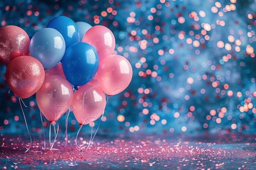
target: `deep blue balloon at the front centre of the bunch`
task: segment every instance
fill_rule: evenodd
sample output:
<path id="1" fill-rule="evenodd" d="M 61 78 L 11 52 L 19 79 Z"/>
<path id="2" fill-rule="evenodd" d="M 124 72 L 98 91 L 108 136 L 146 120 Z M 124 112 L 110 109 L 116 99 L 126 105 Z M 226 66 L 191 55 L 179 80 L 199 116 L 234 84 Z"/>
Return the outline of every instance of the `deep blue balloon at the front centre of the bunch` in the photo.
<path id="1" fill-rule="evenodd" d="M 98 55 L 89 44 L 77 42 L 66 50 L 62 59 L 62 67 L 71 84 L 82 86 L 96 74 L 99 67 Z"/>

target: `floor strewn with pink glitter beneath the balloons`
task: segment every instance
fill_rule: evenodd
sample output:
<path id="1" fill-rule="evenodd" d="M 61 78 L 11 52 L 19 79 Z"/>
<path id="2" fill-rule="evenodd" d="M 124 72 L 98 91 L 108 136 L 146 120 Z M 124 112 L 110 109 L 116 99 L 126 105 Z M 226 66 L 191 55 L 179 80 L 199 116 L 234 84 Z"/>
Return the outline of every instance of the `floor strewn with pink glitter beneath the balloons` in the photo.
<path id="1" fill-rule="evenodd" d="M 42 141 L 33 140 L 25 153 L 29 140 L 2 135 L 0 169 L 256 169 L 255 135 L 96 137 L 83 151 L 74 139 L 67 147 L 57 142 L 53 151 L 42 150 Z"/>

